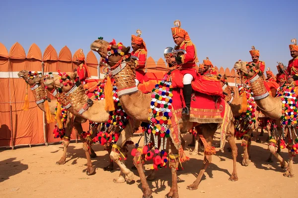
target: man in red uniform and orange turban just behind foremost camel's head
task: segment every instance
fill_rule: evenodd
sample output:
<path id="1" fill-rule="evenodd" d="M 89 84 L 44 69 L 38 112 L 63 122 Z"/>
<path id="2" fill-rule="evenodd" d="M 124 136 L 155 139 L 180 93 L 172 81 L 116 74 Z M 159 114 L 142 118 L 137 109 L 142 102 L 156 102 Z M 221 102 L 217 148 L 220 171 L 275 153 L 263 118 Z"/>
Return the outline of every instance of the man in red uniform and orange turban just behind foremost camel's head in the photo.
<path id="1" fill-rule="evenodd" d="M 146 65 L 147 60 L 147 48 L 144 40 L 140 37 L 142 34 L 141 30 L 137 30 L 138 36 L 132 35 L 132 48 L 133 51 L 131 54 L 133 56 L 137 56 L 139 58 L 138 60 L 138 66 L 136 69 L 136 85 L 138 86 L 139 83 L 143 83 L 144 79 L 144 68 Z"/>

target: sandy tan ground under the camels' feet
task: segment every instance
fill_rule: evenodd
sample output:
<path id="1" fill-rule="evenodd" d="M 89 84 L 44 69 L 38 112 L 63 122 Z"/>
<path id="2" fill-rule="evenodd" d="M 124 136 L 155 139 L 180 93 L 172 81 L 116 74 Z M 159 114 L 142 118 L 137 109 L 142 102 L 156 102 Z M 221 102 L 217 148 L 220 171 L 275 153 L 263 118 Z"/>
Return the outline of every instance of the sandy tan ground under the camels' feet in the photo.
<path id="1" fill-rule="evenodd" d="M 185 134 L 186 145 L 191 142 L 191 135 Z M 133 137 L 136 143 L 140 137 Z M 247 166 L 241 166 L 241 142 L 236 141 L 238 147 L 237 182 L 228 181 L 232 172 L 231 153 L 218 151 L 212 158 L 212 164 L 207 169 L 198 190 L 189 191 L 186 187 L 196 179 L 203 164 L 203 152 L 189 155 L 193 147 L 187 147 L 186 154 L 190 160 L 183 163 L 184 170 L 178 171 L 178 191 L 180 198 L 285 198 L 295 197 L 298 190 L 297 177 L 283 176 L 277 159 L 272 163 L 266 162 L 269 156 L 266 142 L 267 133 L 261 138 L 261 143 L 252 142 L 251 160 Z M 255 138 L 253 139 L 255 140 Z M 142 141 L 141 141 L 142 142 Z M 215 145 L 219 139 L 215 138 Z M 115 184 L 113 179 L 120 172 L 114 164 L 112 172 L 103 171 L 108 165 L 109 155 L 98 144 L 93 146 L 97 157 L 92 159 L 96 167 L 96 174 L 87 176 L 85 173 L 86 159 L 81 143 L 72 142 L 68 148 L 67 163 L 56 165 L 62 156 L 63 146 L 53 144 L 49 146 L 32 146 L 24 148 L 0 150 L 0 197 L 1 198 L 141 198 L 140 177 L 136 170 L 134 181 L 131 183 Z M 130 146 L 129 150 L 134 148 Z M 217 148 L 219 150 L 219 148 Z M 289 159 L 287 149 L 281 155 Z M 298 156 L 297 156 L 298 157 Z M 294 170 L 298 170 L 298 159 L 294 158 Z M 126 165 L 133 166 L 132 156 L 128 155 Z M 149 174 L 150 164 L 145 166 Z M 169 192 L 171 174 L 169 168 L 157 171 L 156 180 L 149 181 L 153 190 L 153 198 L 164 198 Z"/>

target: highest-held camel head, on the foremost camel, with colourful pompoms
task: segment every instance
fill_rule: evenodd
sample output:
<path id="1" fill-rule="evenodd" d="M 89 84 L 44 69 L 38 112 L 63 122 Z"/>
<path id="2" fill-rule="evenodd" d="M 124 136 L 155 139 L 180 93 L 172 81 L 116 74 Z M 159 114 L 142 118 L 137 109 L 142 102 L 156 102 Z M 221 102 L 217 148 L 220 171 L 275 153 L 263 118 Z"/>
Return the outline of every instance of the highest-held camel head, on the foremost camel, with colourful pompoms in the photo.
<path id="1" fill-rule="evenodd" d="M 130 56 L 130 47 L 125 47 L 121 43 L 116 44 L 115 40 L 109 43 L 99 38 L 91 44 L 90 49 L 99 53 L 103 62 L 109 66 L 114 66 L 120 60 L 124 60 L 127 55 Z"/>

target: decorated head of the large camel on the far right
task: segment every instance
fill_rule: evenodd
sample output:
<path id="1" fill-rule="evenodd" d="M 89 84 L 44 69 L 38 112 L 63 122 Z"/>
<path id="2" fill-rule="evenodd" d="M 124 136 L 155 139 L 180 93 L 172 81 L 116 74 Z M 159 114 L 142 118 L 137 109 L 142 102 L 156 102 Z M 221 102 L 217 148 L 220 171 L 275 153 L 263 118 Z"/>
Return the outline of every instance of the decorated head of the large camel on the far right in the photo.
<path id="1" fill-rule="evenodd" d="M 247 79 L 250 79 L 253 76 L 255 76 L 255 74 L 258 73 L 258 71 L 260 71 L 260 63 L 247 64 L 247 62 L 238 60 L 234 64 L 234 69 L 243 73 L 243 75 L 246 76 Z"/>

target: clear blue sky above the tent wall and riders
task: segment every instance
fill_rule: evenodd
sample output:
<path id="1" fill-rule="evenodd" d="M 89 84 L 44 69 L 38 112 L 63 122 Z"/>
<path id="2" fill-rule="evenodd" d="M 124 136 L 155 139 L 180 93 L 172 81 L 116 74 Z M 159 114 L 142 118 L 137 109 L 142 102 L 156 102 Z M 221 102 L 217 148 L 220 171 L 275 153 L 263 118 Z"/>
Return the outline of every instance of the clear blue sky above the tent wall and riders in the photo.
<path id="1" fill-rule="evenodd" d="M 276 73 L 276 62 L 288 64 L 291 39 L 298 39 L 296 11 L 294 0 L 2 0 L 0 43 L 9 50 L 19 42 L 26 53 L 32 43 L 42 52 L 51 44 L 58 53 L 64 46 L 86 53 L 98 37 L 128 46 L 141 29 L 157 61 L 174 46 L 171 27 L 179 19 L 200 62 L 208 56 L 232 68 L 238 59 L 250 61 L 255 46 Z"/>

